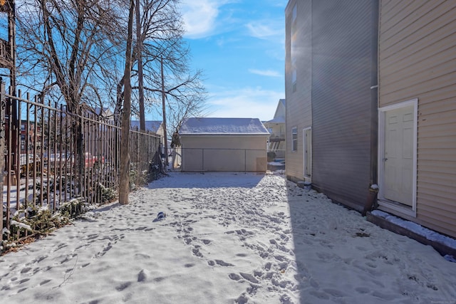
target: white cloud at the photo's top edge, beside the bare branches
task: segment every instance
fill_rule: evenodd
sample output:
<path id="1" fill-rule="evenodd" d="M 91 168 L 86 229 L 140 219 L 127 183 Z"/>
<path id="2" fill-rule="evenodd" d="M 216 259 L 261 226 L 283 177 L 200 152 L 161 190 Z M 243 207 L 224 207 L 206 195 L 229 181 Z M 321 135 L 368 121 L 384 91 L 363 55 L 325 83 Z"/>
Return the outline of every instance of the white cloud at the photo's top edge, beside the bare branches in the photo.
<path id="1" fill-rule="evenodd" d="M 185 23 L 187 38 L 204 38 L 210 36 L 215 28 L 220 0 L 183 0 L 181 3 L 182 18 Z"/>

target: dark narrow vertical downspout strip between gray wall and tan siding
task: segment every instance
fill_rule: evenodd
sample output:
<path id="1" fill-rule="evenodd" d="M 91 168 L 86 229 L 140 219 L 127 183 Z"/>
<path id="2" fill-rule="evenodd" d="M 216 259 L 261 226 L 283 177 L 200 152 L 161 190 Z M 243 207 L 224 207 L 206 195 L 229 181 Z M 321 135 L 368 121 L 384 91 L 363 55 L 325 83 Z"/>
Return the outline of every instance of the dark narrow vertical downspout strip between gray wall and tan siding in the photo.
<path id="1" fill-rule="evenodd" d="M 368 197 L 363 209 L 363 216 L 377 206 L 378 194 L 378 48 L 380 30 L 380 1 L 373 0 L 372 35 L 371 35 L 371 177 L 369 180 Z"/>

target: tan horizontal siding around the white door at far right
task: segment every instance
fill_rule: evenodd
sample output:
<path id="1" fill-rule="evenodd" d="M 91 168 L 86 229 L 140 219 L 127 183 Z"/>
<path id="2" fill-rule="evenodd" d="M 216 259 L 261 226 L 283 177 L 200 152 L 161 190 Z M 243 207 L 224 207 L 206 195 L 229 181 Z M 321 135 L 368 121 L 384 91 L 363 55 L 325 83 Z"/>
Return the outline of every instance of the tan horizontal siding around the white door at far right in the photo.
<path id="1" fill-rule="evenodd" d="M 456 1 L 380 1 L 379 105 L 418 98 L 417 216 L 456 237 Z"/>

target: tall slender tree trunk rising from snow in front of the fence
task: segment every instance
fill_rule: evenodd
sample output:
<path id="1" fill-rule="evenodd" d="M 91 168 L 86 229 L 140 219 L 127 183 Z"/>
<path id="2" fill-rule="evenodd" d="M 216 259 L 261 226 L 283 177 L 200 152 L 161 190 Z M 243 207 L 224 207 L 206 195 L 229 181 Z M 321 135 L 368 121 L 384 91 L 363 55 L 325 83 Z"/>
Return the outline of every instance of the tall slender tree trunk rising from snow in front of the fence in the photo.
<path id="1" fill-rule="evenodd" d="M 125 51 L 125 93 L 122 112 L 122 135 L 120 142 L 120 174 L 119 174 L 119 203 L 128 204 L 130 192 L 130 113 L 131 113 L 131 45 L 133 40 L 133 10 L 135 0 L 130 0 L 130 13 L 128 14 L 127 50 Z"/>

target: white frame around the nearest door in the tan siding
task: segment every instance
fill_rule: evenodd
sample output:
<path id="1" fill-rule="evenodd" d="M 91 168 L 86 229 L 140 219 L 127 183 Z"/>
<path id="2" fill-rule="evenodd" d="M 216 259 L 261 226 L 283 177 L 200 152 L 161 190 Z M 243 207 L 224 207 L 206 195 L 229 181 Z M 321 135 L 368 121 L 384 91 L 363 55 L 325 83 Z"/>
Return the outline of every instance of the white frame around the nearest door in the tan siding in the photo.
<path id="1" fill-rule="evenodd" d="M 412 168 L 412 207 L 385 199 L 383 185 L 385 170 L 383 159 L 385 158 L 385 112 L 405 107 L 413 107 L 413 168 Z M 378 206 L 398 211 L 401 214 L 416 217 L 416 190 L 417 190 L 417 142 L 418 142 L 418 98 L 407 100 L 394 105 L 378 108 Z M 381 208 L 380 208 L 381 209 Z"/>

